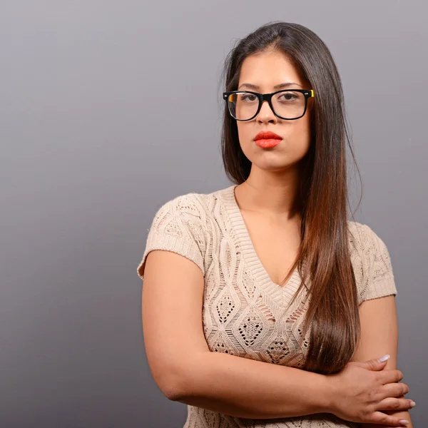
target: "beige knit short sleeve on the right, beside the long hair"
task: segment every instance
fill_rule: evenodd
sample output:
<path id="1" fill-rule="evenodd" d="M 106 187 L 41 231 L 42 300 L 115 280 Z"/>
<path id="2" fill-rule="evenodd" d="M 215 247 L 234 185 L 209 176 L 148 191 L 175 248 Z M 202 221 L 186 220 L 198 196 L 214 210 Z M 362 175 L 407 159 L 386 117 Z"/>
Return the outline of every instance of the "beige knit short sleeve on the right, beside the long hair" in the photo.
<path id="1" fill-rule="evenodd" d="M 360 302 L 397 295 L 392 263 L 387 246 L 368 225 L 363 225 L 363 287 Z"/>

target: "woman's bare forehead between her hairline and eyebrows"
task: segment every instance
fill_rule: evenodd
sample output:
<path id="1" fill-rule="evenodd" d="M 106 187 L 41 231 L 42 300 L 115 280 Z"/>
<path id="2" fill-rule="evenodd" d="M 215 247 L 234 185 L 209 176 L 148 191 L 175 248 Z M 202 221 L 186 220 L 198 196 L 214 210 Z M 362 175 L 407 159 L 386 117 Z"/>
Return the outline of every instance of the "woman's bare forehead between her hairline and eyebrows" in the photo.
<path id="1" fill-rule="evenodd" d="M 305 84 L 300 70 L 292 59 L 277 51 L 247 56 L 240 69 L 239 83 L 253 83 L 272 87 L 277 83 L 296 82 Z"/>

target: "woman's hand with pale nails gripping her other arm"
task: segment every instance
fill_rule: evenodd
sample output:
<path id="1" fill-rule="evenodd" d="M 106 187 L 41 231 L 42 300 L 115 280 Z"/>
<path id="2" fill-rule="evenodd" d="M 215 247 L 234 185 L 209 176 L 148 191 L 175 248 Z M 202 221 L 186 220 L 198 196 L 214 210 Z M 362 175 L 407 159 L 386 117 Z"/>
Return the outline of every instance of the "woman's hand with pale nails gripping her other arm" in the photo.
<path id="1" fill-rule="evenodd" d="M 399 417 L 381 410 L 409 410 L 411 399 L 397 398 L 409 392 L 407 384 L 398 383 L 399 370 L 382 370 L 386 361 L 349 362 L 345 368 L 328 378 L 333 387 L 330 413 L 360 424 L 385 424 L 405 427 Z"/>

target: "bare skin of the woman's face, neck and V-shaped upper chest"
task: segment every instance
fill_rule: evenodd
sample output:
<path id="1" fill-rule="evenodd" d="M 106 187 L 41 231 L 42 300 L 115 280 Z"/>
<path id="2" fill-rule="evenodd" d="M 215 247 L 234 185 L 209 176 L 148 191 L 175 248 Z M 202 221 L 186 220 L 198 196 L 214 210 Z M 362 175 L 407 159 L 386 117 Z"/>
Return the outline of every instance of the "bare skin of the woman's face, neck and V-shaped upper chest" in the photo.
<path id="1" fill-rule="evenodd" d="M 292 61 L 284 54 L 268 51 L 243 61 L 238 89 L 274 92 L 278 83 L 293 82 L 289 88 L 311 89 Z M 267 101 L 252 121 L 237 121 L 240 146 L 251 161 L 245 183 L 235 188 L 235 197 L 248 228 L 253 246 L 270 279 L 278 285 L 290 272 L 300 246 L 300 213 L 293 209 L 300 182 L 300 161 L 310 148 L 310 121 L 313 101 L 308 100 L 302 118 L 278 118 Z M 282 137 L 273 148 L 256 146 L 260 131 L 273 131 Z"/>

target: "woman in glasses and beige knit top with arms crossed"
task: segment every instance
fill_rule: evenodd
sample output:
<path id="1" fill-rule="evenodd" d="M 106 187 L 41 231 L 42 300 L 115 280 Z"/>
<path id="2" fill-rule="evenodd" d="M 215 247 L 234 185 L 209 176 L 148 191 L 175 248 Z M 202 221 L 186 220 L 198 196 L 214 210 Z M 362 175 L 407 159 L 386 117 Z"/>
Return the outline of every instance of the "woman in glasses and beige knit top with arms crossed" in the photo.
<path id="1" fill-rule="evenodd" d="M 347 218 L 330 51 L 266 24 L 230 52 L 223 98 L 234 184 L 165 203 L 138 266 L 158 387 L 185 428 L 411 427 L 389 253 Z"/>

